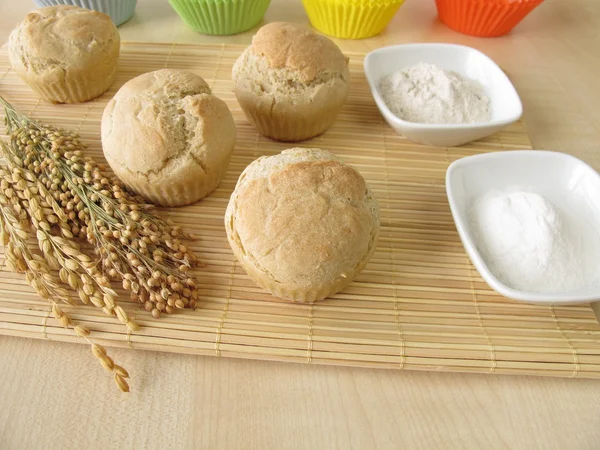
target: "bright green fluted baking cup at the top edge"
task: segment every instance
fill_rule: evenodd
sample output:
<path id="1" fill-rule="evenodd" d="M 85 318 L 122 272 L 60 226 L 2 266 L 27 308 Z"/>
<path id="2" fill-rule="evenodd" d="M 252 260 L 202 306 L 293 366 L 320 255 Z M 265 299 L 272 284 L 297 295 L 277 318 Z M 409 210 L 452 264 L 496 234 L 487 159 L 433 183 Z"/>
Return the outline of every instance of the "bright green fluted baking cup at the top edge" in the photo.
<path id="1" fill-rule="evenodd" d="M 229 35 L 260 22 L 271 0 L 169 0 L 181 19 L 202 34 Z"/>

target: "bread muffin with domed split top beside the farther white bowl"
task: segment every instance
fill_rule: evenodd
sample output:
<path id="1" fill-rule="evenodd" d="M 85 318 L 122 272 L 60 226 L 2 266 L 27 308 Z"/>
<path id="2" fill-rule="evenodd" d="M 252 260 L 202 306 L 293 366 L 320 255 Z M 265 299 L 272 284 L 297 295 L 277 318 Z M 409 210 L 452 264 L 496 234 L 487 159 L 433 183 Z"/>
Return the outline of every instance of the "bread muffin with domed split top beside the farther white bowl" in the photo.
<path id="1" fill-rule="evenodd" d="M 290 23 L 265 25 L 233 66 L 235 95 L 258 131 L 279 141 L 317 136 L 348 96 L 348 58 L 329 39 Z"/>

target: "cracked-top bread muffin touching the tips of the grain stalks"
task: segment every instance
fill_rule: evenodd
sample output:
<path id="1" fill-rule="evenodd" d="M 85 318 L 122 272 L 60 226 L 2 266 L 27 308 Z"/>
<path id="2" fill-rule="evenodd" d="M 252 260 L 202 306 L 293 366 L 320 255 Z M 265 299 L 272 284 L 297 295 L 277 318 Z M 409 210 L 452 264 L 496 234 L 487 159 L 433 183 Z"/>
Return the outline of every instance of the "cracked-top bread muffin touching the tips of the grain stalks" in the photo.
<path id="1" fill-rule="evenodd" d="M 110 167 L 157 205 L 186 205 L 210 194 L 234 145 L 229 108 L 190 72 L 140 75 L 119 89 L 102 115 L 102 147 Z"/>

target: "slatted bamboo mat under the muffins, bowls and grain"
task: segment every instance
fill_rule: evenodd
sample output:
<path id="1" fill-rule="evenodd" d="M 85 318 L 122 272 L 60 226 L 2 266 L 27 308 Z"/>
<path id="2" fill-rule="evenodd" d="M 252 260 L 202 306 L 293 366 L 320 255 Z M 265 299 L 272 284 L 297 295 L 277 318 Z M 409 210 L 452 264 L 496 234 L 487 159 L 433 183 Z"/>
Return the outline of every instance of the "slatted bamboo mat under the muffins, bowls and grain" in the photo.
<path id="1" fill-rule="evenodd" d="M 381 207 L 381 237 L 371 262 L 342 293 L 314 305 L 271 297 L 235 261 L 223 214 L 240 172 L 252 160 L 290 147 L 259 136 L 244 118 L 230 81 L 243 47 L 125 43 L 112 89 L 82 105 L 49 105 L 10 69 L 0 49 L 0 94 L 23 112 L 77 130 L 102 158 L 100 118 L 128 79 L 163 67 L 202 75 L 231 108 L 238 141 L 227 176 L 209 198 L 165 209 L 198 234 L 192 245 L 202 300 L 195 311 L 154 320 L 122 302 L 143 326 L 128 333 L 92 307 L 64 308 L 106 345 L 304 363 L 394 369 L 600 378 L 600 326 L 589 305 L 541 307 L 495 294 L 463 250 L 446 201 L 444 175 L 452 161 L 476 153 L 531 148 L 525 126 L 460 148 L 433 148 L 396 135 L 382 120 L 351 53 L 352 88 L 334 126 L 303 142 L 353 164 Z M 596 169 L 594 155 L 584 157 Z M 0 263 L 3 255 L 0 250 Z M 0 334 L 78 342 L 50 317 L 21 275 L 0 272 Z"/>

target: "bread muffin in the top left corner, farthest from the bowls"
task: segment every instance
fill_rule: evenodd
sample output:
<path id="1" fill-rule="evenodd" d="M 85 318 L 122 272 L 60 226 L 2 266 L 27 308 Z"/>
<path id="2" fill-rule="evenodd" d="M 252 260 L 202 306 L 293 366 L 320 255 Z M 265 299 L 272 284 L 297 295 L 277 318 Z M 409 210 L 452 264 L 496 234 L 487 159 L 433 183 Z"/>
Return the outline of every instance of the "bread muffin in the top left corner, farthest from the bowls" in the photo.
<path id="1" fill-rule="evenodd" d="M 50 6 L 25 16 L 8 40 L 13 69 L 44 100 L 78 103 L 115 81 L 120 38 L 106 14 Z"/>

